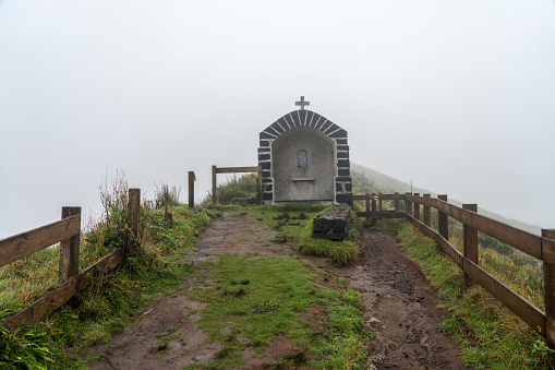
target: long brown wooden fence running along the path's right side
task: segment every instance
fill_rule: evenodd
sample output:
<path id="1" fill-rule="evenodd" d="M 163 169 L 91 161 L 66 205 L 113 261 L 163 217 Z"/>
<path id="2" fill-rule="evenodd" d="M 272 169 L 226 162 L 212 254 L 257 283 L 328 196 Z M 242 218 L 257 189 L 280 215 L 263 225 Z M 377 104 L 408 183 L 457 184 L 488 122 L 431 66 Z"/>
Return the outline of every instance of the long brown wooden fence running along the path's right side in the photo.
<path id="1" fill-rule="evenodd" d="M 551 347 L 555 348 L 555 230 L 544 229 L 542 236 L 536 236 L 478 214 L 475 204 L 463 204 L 462 207 L 449 204 L 447 195 L 437 195 L 437 199 L 434 199 L 430 194 L 421 196 L 418 193 L 364 194 L 353 195 L 353 200 L 365 201 L 366 211 L 357 212 L 359 216 L 374 219 L 395 217 L 410 220 L 424 235 L 434 239 L 463 271 L 467 284 L 472 279 L 534 331 L 540 327 L 541 335 L 547 339 Z M 383 200 L 394 200 L 396 202 L 395 211 L 382 211 Z M 406 202 L 403 211 L 399 210 L 398 202 L 400 200 Z M 372 202 L 372 211 L 370 211 L 370 202 Z M 379 203 L 377 210 L 376 202 Z M 431 226 L 432 208 L 437 210 L 437 231 Z M 448 217 L 453 217 L 463 225 L 462 253 L 449 243 Z M 543 261 L 545 312 L 480 267 L 478 231 Z"/>

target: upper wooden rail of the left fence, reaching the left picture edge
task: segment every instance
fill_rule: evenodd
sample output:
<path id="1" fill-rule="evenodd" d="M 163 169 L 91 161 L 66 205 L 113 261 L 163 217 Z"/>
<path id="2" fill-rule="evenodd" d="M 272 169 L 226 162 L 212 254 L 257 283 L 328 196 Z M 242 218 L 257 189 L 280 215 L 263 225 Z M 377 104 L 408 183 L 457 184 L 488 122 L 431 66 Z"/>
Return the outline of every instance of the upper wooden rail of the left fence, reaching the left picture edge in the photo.
<path id="1" fill-rule="evenodd" d="M 0 240 L 0 267 L 81 232 L 81 215 Z"/>

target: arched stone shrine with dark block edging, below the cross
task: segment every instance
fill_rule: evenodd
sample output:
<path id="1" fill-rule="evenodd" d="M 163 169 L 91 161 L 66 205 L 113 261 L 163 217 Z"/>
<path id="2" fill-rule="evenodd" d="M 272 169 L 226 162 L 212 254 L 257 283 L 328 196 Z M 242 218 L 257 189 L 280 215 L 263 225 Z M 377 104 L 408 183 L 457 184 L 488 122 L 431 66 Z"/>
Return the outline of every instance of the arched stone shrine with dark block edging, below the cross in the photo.
<path id="1" fill-rule="evenodd" d="M 262 131 L 258 166 L 265 204 L 352 205 L 347 131 L 314 111 L 293 110 Z"/>

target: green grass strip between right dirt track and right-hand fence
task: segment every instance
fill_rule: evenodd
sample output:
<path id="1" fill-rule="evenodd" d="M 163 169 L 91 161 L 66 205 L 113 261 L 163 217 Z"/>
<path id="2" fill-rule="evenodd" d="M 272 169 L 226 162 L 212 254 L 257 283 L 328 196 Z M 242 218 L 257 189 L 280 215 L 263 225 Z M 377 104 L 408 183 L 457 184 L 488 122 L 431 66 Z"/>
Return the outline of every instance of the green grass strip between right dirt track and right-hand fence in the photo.
<path id="1" fill-rule="evenodd" d="M 442 331 L 457 341 L 468 365 L 475 369 L 547 367 L 543 339 L 479 285 L 464 288 L 462 272 L 435 241 L 400 219 L 382 220 L 375 228 L 397 231 L 410 258 L 437 289 L 443 300 L 439 308 L 449 315 Z"/>

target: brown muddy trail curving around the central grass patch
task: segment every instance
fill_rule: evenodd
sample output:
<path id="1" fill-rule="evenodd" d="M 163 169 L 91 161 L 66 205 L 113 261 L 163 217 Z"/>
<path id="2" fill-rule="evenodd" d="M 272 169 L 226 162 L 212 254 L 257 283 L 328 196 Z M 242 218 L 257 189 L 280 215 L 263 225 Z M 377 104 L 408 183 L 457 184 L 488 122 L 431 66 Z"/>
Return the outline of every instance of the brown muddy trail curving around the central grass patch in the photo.
<path id="1" fill-rule="evenodd" d="M 246 214 L 226 213 L 212 222 L 197 238 L 195 250 L 184 258 L 207 261 L 224 253 L 297 254 L 291 247 L 273 242 L 274 238 L 266 225 Z M 443 318 L 435 309 L 433 289 L 391 232 L 365 229 L 360 259 L 348 267 L 338 268 L 322 258 L 297 256 L 343 278 L 361 293 L 366 329 L 373 335 L 367 369 L 466 369 L 457 345 L 439 331 Z M 206 284 L 202 277 L 191 278 L 185 290 L 202 284 Z M 184 291 L 162 297 L 134 318 L 125 331 L 83 357 L 95 358 L 87 365 L 98 370 L 170 370 L 210 361 L 224 345 L 208 343 L 207 335 L 197 329 L 203 307 Z M 166 348 L 160 351 L 161 345 Z M 277 339 L 257 356 L 243 353 L 243 368 L 265 369 L 265 362 L 298 349 L 288 341 Z"/>

